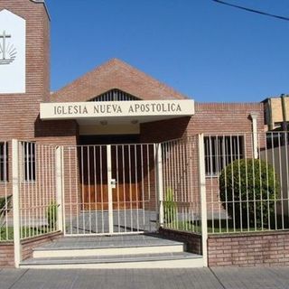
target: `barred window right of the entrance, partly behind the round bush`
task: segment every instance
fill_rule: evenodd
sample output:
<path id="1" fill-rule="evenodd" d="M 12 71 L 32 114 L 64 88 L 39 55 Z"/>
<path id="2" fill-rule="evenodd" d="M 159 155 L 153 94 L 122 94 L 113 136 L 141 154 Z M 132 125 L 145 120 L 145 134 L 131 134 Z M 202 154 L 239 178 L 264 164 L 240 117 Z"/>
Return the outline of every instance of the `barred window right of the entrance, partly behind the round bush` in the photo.
<path id="1" fill-rule="evenodd" d="M 205 136 L 204 142 L 206 175 L 218 175 L 228 163 L 244 157 L 243 136 Z"/>

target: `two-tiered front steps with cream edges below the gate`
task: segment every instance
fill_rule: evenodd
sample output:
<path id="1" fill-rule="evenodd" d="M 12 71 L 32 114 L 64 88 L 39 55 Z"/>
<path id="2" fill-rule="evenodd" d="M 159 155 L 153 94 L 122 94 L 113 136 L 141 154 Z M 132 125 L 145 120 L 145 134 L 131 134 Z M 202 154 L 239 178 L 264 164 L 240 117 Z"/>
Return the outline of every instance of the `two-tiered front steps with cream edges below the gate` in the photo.
<path id="1" fill-rule="evenodd" d="M 158 235 L 61 238 L 33 250 L 21 268 L 192 268 L 202 256 Z"/>

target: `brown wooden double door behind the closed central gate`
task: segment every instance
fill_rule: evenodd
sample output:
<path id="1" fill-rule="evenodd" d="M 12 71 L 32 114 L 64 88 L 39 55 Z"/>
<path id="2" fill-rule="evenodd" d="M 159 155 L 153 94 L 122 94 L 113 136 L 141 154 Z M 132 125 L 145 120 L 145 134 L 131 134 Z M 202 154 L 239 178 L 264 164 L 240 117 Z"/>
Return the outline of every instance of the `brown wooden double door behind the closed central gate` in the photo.
<path id="1" fill-rule="evenodd" d="M 142 208 L 141 154 L 137 144 L 111 145 L 113 210 Z M 83 210 L 108 210 L 107 145 L 79 146 L 79 173 Z"/>

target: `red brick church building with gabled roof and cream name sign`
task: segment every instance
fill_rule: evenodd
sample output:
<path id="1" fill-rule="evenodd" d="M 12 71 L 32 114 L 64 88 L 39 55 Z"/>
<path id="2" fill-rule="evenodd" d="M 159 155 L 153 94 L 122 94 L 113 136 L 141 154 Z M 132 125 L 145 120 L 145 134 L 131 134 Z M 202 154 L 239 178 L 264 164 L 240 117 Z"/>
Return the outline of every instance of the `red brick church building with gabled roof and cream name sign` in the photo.
<path id="1" fill-rule="evenodd" d="M 3 210 L 6 228 L 30 228 L 14 231 L 14 264 L 25 267 L 49 235 L 31 228 L 48 226 L 73 238 L 162 230 L 172 238 L 175 226 L 191 228 L 191 252 L 208 254 L 202 182 L 206 218 L 228 219 L 213 205 L 217 176 L 259 154 L 263 104 L 203 103 L 118 59 L 51 92 L 51 18 L 44 0 L 0 1 L 0 197 L 18 196 L 19 214 Z M 32 238 L 38 243 L 27 245 Z"/>

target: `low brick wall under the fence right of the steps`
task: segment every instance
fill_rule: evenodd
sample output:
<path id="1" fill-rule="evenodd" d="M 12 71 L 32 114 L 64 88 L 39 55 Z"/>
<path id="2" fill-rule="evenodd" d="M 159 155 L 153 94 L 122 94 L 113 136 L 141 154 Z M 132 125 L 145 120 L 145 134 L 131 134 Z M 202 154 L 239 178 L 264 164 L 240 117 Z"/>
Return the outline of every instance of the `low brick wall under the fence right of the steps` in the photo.
<path id="1" fill-rule="evenodd" d="M 209 236 L 209 266 L 288 266 L 289 232 Z"/>

